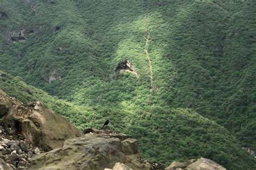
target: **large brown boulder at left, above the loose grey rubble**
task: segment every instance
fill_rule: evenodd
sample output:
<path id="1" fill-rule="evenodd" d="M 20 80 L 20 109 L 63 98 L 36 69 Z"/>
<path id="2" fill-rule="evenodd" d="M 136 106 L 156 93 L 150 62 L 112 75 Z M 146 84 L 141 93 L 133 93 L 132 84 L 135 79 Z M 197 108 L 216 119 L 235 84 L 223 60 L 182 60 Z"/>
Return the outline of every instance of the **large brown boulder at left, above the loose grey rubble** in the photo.
<path id="1" fill-rule="evenodd" d="M 14 105 L 4 121 L 5 126 L 16 129 L 29 143 L 47 151 L 61 147 L 66 139 L 82 135 L 80 130 L 47 109 L 42 102 Z"/>

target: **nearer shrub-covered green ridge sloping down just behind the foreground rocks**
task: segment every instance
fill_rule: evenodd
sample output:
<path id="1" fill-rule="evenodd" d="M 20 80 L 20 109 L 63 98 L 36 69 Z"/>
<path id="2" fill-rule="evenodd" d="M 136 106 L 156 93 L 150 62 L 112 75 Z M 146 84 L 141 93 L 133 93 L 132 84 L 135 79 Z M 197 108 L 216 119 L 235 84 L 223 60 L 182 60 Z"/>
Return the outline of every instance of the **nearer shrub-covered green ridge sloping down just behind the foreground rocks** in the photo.
<path id="1" fill-rule="evenodd" d="M 102 128 L 106 117 L 105 107 L 100 110 L 60 100 L 3 72 L 0 72 L 0 87 L 22 102 L 43 101 L 80 129 Z M 255 160 L 230 132 L 192 109 L 145 106 L 137 113 L 133 112 L 134 107 L 126 106 L 116 115 L 107 117 L 111 120 L 111 129 L 139 139 L 143 158 L 169 165 L 173 160 L 205 157 L 230 169 L 253 169 L 256 166 Z M 81 126 L 83 124 L 86 125 Z"/>

